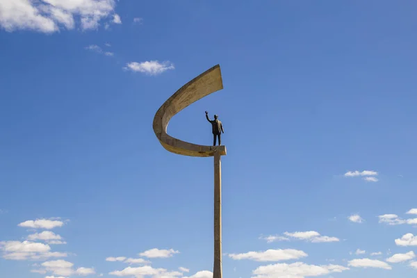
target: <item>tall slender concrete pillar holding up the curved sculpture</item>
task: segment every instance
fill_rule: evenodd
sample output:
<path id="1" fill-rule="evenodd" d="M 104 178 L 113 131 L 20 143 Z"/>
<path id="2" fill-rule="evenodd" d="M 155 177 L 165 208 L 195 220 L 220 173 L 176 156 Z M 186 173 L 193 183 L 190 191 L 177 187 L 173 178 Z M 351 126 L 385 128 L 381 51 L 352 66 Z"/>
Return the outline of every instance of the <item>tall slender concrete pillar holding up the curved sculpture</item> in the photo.
<path id="1" fill-rule="evenodd" d="M 214 265 L 213 278 L 222 278 L 222 162 L 214 152 Z"/>

